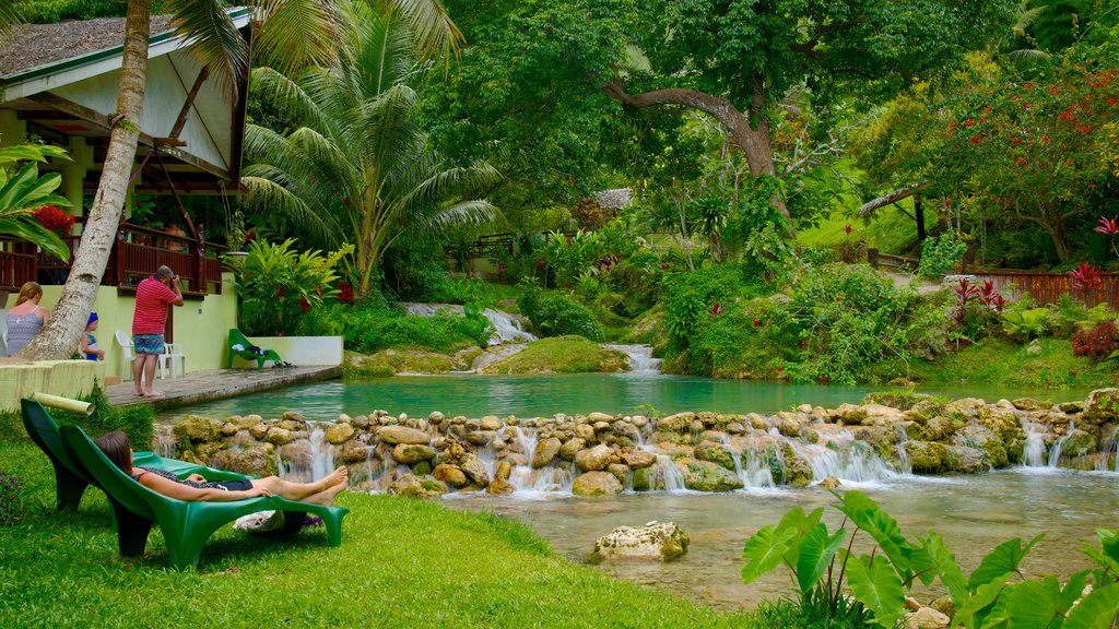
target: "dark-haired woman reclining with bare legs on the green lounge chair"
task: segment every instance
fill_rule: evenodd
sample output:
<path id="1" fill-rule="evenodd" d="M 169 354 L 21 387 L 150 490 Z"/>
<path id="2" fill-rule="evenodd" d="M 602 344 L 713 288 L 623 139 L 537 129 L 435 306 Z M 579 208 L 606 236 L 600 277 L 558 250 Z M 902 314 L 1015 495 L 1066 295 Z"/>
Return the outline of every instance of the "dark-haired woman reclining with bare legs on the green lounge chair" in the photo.
<path id="1" fill-rule="evenodd" d="M 220 480 L 207 482 L 197 473 L 180 480 L 173 473 L 156 468 L 132 467 L 132 447 L 122 431 L 113 431 L 96 440 L 97 447 L 116 467 L 124 470 L 140 485 L 178 500 L 229 501 L 256 498 L 257 496 L 280 496 L 288 500 L 299 500 L 316 505 L 331 506 L 335 496 L 346 489 L 347 469 L 339 467 L 326 478 L 314 482 L 290 482 L 278 476 L 253 480 Z"/>

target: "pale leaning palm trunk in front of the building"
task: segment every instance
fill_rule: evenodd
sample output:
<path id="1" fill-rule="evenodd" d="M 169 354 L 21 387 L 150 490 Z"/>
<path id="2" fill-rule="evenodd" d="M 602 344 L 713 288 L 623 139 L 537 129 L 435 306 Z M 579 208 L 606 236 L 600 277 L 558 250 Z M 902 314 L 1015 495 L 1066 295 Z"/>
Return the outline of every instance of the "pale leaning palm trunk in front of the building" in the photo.
<path id="1" fill-rule="evenodd" d="M 62 298 L 47 325 L 16 356 L 27 359 L 65 359 L 73 356 L 78 335 L 97 299 L 109 254 L 116 241 L 129 176 L 135 161 L 143 114 L 144 81 L 148 71 L 148 38 L 151 0 L 129 0 L 124 20 L 124 58 L 121 90 L 116 96 L 116 121 L 109 140 L 101 182 L 93 209 L 82 232 L 82 242 L 70 266 Z M 154 269 L 152 269 L 154 272 Z"/>

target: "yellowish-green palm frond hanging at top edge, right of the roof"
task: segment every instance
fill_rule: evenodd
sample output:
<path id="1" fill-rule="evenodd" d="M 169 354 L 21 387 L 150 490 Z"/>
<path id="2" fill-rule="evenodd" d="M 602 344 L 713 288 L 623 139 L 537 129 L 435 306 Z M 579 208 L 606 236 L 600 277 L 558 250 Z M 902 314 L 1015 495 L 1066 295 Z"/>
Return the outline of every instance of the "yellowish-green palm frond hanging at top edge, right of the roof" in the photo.
<path id="1" fill-rule="evenodd" d="M 284 74 L 309 65 L 330 65 L 337 50 L 339 20 L 322 0 L 266 0 L 253 45 L 260 62 Z"/>

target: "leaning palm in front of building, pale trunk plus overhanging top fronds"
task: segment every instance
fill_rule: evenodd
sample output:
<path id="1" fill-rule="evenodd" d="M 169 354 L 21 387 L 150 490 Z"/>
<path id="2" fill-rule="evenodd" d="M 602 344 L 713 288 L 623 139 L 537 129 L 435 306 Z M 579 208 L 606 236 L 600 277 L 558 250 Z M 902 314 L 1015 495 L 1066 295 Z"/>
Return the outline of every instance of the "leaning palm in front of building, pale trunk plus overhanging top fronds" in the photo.
<path id="1" fill-rule="evenodd" d="M 419 46 L 425 54 L 442 50 L 445 57 L 450 50 L 457 49 L 461 35 L 439 0 L 365 1 L 396 7 L 419 35 Z M 7 2 L 0 2 L 0 6 L 3 7 L 0 9 L 0 25 L 17 24 L 15 6 Z M 258 17 L 264 25 L 258 43 L 262 54 L 283 59 L 283 67 L 289 68 L 328 59 L 331 50 L 328 44 L 333 40 L 338 27 L 335 6 L 335 0 L 265 0 L 258 7 Z M 176 34 L 194 41 L 192 49 L 204 60 L 210 75 L 233 90 L 235 78 L 247 72 L 248 49 L 226 15 L 223 0 L 164 0 L 162 8 L 175 16 Z M 116 237 L 129 176 L 135 160 L 143 114 L 150 18 L 151 0 L 128 0 L 116 115 L 93 208 L 58 306 L 46 326 L 19 351 L 20 358 L 68 357 L 74 350 L 74 339 L 93 309 L 97 285 L 105 273 Z"/>

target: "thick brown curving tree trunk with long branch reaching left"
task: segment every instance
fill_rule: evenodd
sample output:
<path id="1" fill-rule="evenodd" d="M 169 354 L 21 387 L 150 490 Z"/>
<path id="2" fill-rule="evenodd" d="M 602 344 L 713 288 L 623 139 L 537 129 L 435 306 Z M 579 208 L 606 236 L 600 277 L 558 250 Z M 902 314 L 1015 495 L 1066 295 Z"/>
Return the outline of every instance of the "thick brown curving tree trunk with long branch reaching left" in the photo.
<path id="1" fill-rule="evenodd" d="M 724 96 L 713 96 L 696 90 L 655 90 L 643 94 L 629 94 L 622 87 L 621 79 L 614 78 L 602 85 L 608 96 L 622 105 L 632 109 L 643 109 L 652 105 L 684 105 L 707 113 L 718 120 L 731 132 L 734 143 L 746 156 L 746 165 L 753 177 L 777 176 L 773 165 L 773 151 L 770 148 L 770 125 L 765 116 L 765 91 L 761 77 L 754 77 L 754 93 L 750 104 L 750 118 L 758 123 L 754 129 L 746 116 Z M 792 228 L 792 217 L 784 200 L 773 196 L 770 201 L 786 219 L 786 236 L 797 237 Z"/>

